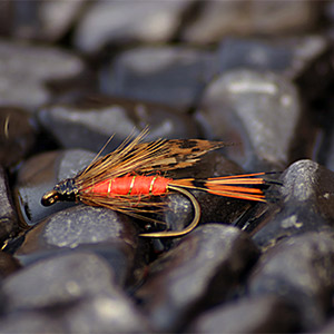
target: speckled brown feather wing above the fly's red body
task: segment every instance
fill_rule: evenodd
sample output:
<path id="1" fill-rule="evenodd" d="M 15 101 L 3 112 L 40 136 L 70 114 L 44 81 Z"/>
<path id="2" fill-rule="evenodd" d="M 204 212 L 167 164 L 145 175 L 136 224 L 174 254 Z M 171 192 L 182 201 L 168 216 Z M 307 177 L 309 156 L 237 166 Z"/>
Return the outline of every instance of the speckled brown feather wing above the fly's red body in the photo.
<path id="1" fill-rule="evenodd" d="M 121 144 L 115 151 L 97 159 L 76 177 L 78 186 L 121 177 L 127 174 L 165 173 L 177 168 L 190 167 L 206 153 L 224 147 L 223 141 L 200 139 L 159 139 Z"/>

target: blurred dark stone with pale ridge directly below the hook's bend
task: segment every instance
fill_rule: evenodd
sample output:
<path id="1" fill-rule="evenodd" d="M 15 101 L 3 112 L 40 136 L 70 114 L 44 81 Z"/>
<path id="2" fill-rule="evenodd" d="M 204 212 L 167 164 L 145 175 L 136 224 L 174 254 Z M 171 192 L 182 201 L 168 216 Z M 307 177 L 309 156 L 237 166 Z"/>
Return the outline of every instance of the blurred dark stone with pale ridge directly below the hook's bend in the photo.
<path id="1" fill-rule="evenodd" d="M 151 264 L 137 297 L 154 327 L 179 331 L 207 306 L 230 297 L 257 256 L 238 228 L 200 226 Z"/>

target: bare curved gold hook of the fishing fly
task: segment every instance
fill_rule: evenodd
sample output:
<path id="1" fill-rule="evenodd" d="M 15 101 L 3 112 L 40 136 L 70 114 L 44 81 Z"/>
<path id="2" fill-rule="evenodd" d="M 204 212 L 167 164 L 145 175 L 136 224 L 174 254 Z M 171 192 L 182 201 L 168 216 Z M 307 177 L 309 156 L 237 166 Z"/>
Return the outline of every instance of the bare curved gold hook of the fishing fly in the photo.
<path id="1" fill-rule="evenodd" d="M 195 198 L 195 196 L 184 188 L 168 186 L 168 189 L 178 191 L 189 198 L 189 200 L 191 202 L 193 207 L 194 207 L 193 222 L 183 230 L 163 230 L 163 232 L 141 233 L 141 234 L 139 234 L 139 236 L 150 237 L 150 238 L 178 237 L 178 236 L 183 236 L 183 235 L 191 232 L 198 225 L 198 222 L 200 219 L 200 206 L 199 206 L 197 199 Z"/>

